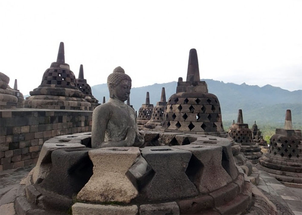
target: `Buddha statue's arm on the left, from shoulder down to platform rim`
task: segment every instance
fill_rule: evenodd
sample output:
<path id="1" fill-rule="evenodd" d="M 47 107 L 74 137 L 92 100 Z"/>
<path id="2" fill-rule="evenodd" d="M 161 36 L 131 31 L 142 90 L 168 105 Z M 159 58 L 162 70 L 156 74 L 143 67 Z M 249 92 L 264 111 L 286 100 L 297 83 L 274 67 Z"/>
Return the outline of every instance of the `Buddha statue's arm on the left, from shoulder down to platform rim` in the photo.
<path id="1" fill-rule="evenodd" d="M 107 123 L 110 119 L 111 111 L 106 105 L 98 106 L 92 114 L 91 146 L 101 148 L 105 139 Z"/>

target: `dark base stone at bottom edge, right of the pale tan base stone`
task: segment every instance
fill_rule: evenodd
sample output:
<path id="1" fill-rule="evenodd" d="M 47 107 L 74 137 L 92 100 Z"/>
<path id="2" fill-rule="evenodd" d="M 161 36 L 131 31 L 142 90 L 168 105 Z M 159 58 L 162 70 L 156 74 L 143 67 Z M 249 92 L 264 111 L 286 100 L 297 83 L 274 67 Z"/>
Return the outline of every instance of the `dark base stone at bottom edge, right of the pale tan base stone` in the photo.
<path id="1" fill-rule="evenodd" d="M 142 204 L 140 205 L 140 215 L 143 214 L 179 214 L 179 207 L 175 201 L 162 204 Z"/>

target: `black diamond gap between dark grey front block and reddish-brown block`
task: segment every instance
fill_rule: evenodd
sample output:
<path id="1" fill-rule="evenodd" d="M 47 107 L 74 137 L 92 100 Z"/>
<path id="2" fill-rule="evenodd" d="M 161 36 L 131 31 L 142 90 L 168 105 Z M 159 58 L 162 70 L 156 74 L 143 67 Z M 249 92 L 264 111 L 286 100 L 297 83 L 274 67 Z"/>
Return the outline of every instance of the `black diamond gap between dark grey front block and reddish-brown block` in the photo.
<path id="1" fill-rule="evenodd" d="M 197 157 L 195 157 L 194 154 L 192 154 L 191 159 L 188 163 L 188 167 L 186 170 L 186 175 L 190 179 L 190 181 L 196 186 L 199 186 L 199 179 L 202 174 L 202 170 L 204 168 L 204 165 L 198 160 Z"/>

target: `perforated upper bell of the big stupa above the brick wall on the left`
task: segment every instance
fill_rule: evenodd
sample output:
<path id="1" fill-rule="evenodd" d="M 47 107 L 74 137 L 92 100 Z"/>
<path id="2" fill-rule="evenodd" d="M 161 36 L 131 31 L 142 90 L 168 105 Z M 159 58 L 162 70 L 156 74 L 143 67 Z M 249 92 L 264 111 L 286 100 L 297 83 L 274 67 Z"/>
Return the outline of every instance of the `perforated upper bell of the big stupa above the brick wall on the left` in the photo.
<path id="1" fill-rule="evenodd" d="M 42 84 L 76 86 L 76 77 L 71 70 L 47 69 L 43 74 Z"/>

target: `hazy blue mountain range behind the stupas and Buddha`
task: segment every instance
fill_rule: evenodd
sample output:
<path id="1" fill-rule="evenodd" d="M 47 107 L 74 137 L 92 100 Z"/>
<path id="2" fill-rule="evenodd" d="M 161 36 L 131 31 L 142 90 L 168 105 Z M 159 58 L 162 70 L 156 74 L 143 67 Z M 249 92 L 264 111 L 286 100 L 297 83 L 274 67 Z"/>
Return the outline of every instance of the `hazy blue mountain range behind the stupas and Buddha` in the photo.
<path id="1" fill-rule="evenodd" d="M 212 79 L 202 79 L 207 82 L 209 93 L 217 95 L 222 111 L 223 121 L 237 119 L 238 109 L 243 110 L 243 120 L 252 126 L 253 121 L 259 123 L 283 123 L 286 109 L 291 109 L 293 123 L 301 124 L 302 117 L 302 90 L 290 92 L 265 85 L 238 85 L 223 83 Z M 162 87 L 165 87 L 167 99 L 176 92 L 177 82 L 153 84 L 131 89 L 130 103 L 135 110 L 145 103 L 146 92 L 150 93 L 151 104 L 156 105 L 160 100 Z M 101 102 L 103 96 L 109 98 L 107 84 L 92 86 L 92 94 Z"/>

